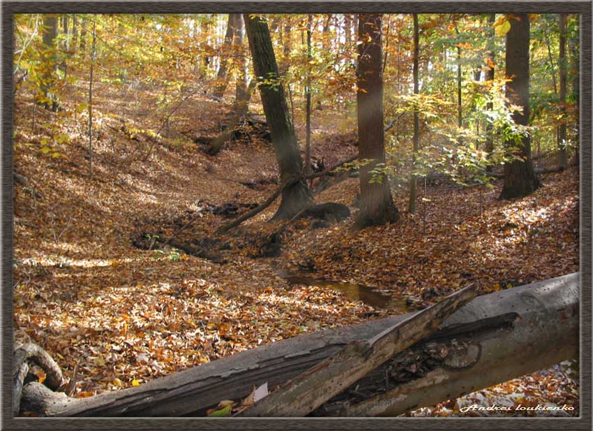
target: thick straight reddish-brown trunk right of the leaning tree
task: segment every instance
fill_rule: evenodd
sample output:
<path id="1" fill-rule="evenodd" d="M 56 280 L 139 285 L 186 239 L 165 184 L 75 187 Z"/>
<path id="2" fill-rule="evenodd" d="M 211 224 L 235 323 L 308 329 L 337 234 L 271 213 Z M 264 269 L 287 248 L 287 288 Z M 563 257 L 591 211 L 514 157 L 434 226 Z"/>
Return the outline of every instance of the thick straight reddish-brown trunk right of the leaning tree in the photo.
<path id="1" fill-rule="evenodd" d="M 359 159 L 370 159 L 371 162 L 361 167 L 360 212 L 356 228 L 394 223 L 399 219 L 386 175 L 377 179 L 370 173 L 377 164 L 385 163 L 381 51 L 381 15 L 360 14 L 359 64 L 356 69 Z"/>

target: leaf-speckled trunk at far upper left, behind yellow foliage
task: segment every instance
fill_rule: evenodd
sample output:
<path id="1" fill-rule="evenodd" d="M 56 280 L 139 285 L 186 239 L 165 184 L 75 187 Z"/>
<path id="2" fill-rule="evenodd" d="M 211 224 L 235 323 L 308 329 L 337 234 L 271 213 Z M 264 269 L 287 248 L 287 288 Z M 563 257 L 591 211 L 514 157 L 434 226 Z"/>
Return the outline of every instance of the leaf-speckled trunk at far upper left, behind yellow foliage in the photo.
<path id="1" fill-rule="evenodd" d="M 56 68 L 57 68 L 57 47 L 56 38 L 58 36 L 58 20 L 56 15 L 43 16 L 43 50 L 45 60 L 43 61 L 43 70 L 40 73 L 40 96 L 43 99 L 45 109 L 57 110 L 58 103 L 55 94 L 56 86 Z"/>

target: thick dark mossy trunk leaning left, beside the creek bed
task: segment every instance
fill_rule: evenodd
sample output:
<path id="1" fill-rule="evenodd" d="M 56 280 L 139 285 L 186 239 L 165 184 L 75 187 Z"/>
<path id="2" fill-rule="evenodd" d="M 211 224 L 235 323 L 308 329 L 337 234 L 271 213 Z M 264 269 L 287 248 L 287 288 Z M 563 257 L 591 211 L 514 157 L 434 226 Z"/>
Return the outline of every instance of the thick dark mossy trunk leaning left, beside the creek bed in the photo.
<path id="1" fill-rule="evenodd" d="M 253 68 L 260 82 L 262 105 L 270 126 L 271 137 L 280 167 L 280 182 L 283 184 L 300 177 L 303 161 L 294 126 L 288 112 L 284 88 L 280 82 L 278 64 L 274 55 L 268 24 L 256 15 L 243 15 Z M 291 219 L 310 205 L 313 197 L 306 182 L 299 181 L 282 192 L 282 202 L 272 219 Z"/>

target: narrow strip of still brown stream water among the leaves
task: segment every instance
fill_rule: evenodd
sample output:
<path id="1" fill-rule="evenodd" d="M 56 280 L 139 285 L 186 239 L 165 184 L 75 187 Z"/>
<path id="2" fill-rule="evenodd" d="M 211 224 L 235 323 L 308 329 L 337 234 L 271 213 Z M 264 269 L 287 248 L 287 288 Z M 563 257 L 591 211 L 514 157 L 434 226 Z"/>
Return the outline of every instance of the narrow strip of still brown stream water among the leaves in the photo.
<path id="1" fill-rule="evenodd" d="M 305 286 L 316 286 L 322 288 L 331 288 L 334 291 L 344 293 L 347 298 L 359 300 L 375 308 L 393 309 L 402 313 L 407 313 L 405 300 L 395 300 L 391 296 L 377 292 L 374 288 L 364 286 L 363 284 L 336 282 L 327 279 L 316 279 L 304 275 L 296 275 L 285 268 L 275 268 L 276 273 L 285 279 L 289 284 L 304 284 Z"/>

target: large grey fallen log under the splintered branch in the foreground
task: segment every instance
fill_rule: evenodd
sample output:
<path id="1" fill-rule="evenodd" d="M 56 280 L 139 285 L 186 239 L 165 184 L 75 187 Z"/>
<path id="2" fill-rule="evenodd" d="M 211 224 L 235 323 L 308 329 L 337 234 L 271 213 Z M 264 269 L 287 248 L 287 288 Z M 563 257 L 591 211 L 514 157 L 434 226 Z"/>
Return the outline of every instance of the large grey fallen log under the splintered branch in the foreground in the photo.
<path id="1" fill-rule="evenodd" d="M 346 402 L 337 411 L 328 411 L 353 416 L 393 414 L 434 405 L 575 358 L 578 298 L 578 273 L 479 296 L 446 319 L 442 329 L 428 340 L 444 346 L 441 353 L 446 351 L 435 370 L 388 388 L 389 392 L 377 394 L 380 399 L 368 401 L 367 405 Z M 95 397 L 70 398 L 31 382 L 23 388 L 21 407 L 47 416 L 204 416 L 220 400 L 239 400 L 249 395 L 253 386 L 265 382 L 269 387 L 286 383 L 346 344 L 373 339 L 409 317 L 407 314 L 286 339 L 137 388 Z M 410 351 L 428 349 L 422 343 Z M 386 367 L 397 368 L 401 355 L 388 361 Z M 365 379 L 355 384 L 363 384 Z"/>

